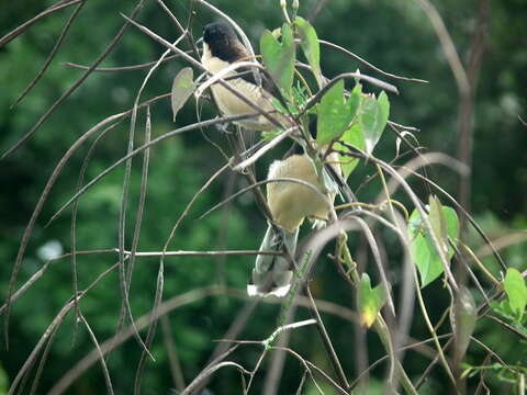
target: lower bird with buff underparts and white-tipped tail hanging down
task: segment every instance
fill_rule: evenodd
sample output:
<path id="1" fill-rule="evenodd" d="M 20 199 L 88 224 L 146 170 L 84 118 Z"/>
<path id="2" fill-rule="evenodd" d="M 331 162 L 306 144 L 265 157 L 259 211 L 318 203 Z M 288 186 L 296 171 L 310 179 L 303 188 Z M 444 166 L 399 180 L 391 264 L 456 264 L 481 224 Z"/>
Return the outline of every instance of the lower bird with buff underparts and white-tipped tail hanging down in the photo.
<path id="1" fill-rule="evenodd" d="M 340 174 L 338 155 L 327 157 L 332 171 Z M 325 171 L 325 170 L 323 170 Z M 328 202 L 333 203 L 337 193 L 336 184 L 329 190 L 322 180 L 327 174 L 318 177 L 313 160 L 306 155 L 292 155 L 284 160 L 276 160 L 269 167 L 268 180 L 292 178 L 310 183 L 323 195 L 313 189 L 293 182 L 270 182 L 267 184 L 267 202 L 276 225 L 269 224 L 260 251 L 287 250 L 294 256 L 299 229 L 304 219 L 327 219 L 329 214 Z M 328 182 L 329 184 L 332 182 Z M 327 184 L 327 183 L 326 183 Z M 250 296 L 285 296 L 291 287 L 293 270 L 282 256 L 257 256 L 253 269 L 251 281 L 247 285 Z"/>

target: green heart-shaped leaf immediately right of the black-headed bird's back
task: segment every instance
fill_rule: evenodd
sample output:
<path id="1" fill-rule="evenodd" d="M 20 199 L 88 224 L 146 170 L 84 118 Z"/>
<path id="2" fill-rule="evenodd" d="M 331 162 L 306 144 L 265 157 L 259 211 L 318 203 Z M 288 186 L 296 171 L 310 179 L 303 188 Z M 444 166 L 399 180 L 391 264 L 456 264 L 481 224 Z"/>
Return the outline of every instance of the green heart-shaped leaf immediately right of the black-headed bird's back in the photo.
<path id="1" fill-rule="evenodd" d="M 265 31 L 260 37 L 260 52 L 264 65 L 271 75 L 274 83 L 287 98 L 291 97 L 291 87 L 294 77 L 295 46 L 291 26 L 283 24 L 280 43 L 271 32 Z"/>

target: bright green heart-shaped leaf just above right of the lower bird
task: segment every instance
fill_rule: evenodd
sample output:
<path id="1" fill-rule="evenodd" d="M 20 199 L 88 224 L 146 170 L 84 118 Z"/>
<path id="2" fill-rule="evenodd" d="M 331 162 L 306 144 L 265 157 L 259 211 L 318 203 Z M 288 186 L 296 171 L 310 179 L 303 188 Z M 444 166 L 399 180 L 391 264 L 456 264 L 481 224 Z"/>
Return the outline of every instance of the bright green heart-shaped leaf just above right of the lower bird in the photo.
<path id="1" fill-rule="evenodd" d="M 354 120 L 358 105 L 355 100 L 345 101 L 344 81 L 340 80 L 324 93 L 317 109 L 316 142 L 324 145 L 343 135 Z"/>

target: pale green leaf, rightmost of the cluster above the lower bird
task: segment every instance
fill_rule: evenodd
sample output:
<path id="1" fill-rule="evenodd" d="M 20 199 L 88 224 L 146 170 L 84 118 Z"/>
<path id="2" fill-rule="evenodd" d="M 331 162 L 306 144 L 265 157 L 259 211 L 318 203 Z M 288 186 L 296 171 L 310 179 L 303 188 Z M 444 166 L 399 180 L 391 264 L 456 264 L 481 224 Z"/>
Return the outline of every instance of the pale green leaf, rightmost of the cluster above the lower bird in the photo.
<path id="1" fill-rule="evenodd" d="M 373 148 L 375 148 L 386 126 L 389 115 L 390 102 L 384 91 L 381 92 L 379 99 L 375 99 L 372 94 L 362 97 L 360 122 L 366 137 L 366 151 L 368 154 L 373 153 Z"/>

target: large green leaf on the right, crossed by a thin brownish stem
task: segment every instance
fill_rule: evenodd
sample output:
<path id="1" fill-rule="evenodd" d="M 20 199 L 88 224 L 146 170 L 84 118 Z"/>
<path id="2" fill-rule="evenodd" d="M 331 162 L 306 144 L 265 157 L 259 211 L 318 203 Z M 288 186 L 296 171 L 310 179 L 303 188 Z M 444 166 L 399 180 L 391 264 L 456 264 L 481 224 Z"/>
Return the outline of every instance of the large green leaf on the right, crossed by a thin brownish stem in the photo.
<path id="1" fill-rule="evenodd" d="M 434 210 L 438 208 L 436 207 Z M 446 206 L 440 206 L 440 211 L 442 214 L 434 215 L 444 216 L 447 236 L 452 240 L 456 240 L 459 237 L 459 221 L 456 211 Z M 421 275 L 421 286 L 425 287 L 441 275 L 445 268 L 417 210 L 414 210 L 410 216 L 407 233 L 411 240 L 410 247 L 412 256 Z M 445 250 L 447 251 L 447 258 L 451 259 L 453 256 L 453 248 L 445 245 Z"/>

